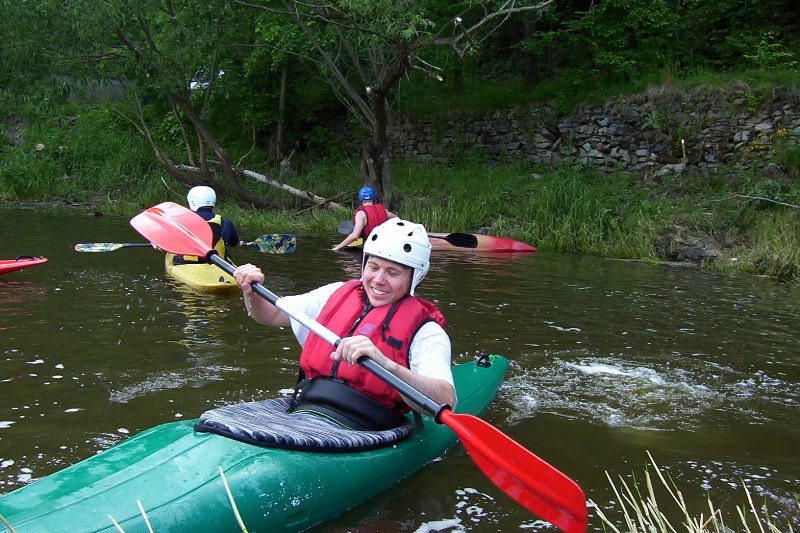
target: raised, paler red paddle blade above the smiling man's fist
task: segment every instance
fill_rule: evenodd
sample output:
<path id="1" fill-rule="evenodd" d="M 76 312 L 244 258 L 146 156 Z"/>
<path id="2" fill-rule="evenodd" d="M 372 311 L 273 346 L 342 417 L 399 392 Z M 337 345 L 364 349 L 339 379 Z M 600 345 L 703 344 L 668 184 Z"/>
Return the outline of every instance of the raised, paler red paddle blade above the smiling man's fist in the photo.
<path id="1" fill-rule="evenodd" d="M 131 219 L 131 226 L 159 250 L 175 255 L 205 257 L 214 239 L 203 217 L 174 202 L 145 209 Z"/>

